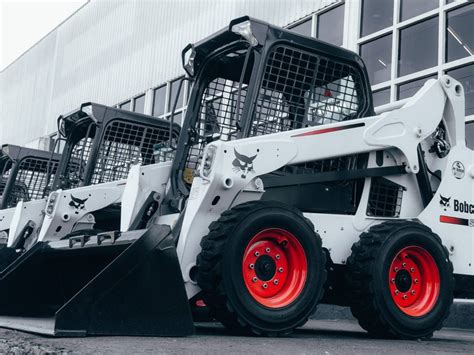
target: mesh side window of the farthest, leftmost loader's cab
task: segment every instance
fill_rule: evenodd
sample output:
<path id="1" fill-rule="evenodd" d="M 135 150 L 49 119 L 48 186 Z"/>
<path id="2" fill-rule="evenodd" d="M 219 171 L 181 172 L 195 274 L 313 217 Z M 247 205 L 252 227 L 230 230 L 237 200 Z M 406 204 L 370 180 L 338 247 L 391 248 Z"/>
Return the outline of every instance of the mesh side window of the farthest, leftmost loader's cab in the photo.
<path id="1" fill-rule="evenodd" d="M 20 200 L 43 198 L 51 186 L 57 168 L 57 162 L 38 158 L 23 159 L 18 167 L 13 188 L 7 197 L 7 207 L 15 207 Z"/>

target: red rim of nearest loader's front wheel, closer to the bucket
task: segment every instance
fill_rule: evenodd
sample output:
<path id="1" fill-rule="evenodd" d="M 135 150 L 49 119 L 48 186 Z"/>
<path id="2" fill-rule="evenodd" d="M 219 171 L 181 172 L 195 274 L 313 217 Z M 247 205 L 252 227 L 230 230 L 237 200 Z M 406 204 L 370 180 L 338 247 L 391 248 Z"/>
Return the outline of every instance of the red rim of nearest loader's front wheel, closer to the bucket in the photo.
<path id="1" fill-rule="evenodd" d="M 281 308 L 301 294 L 308 273 L 306 254 L 298 239 L 280 228 L 268 228 L 249 242 L 242 275 L 252 298 L 269 308 Z"/>

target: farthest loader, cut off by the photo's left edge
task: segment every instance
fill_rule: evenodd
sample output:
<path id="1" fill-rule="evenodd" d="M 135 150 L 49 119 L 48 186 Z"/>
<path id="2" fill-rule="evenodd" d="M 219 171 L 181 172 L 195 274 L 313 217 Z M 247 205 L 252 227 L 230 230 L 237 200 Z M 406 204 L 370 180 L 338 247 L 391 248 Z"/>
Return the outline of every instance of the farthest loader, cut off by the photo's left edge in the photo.
<path id="1" fill-rule="evenodd" d="M 0 152 L 0 245 L 7 243 L 15 207 L 48 195 L 58 167 L 59 154 L 11 144 Z M 33 224 L 27 228 L 34 228 Z"/>

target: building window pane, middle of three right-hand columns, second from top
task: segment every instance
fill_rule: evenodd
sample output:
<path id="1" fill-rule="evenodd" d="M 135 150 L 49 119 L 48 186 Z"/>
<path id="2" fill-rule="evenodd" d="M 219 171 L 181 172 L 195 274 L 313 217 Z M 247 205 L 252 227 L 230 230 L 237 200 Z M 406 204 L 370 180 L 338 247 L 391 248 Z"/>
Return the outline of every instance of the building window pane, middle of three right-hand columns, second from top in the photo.
<path id="1" fill-rule="evenodd" d="M 431 68 L 438 63 L 438 17 L 400 30 L 398 76 Z"/>

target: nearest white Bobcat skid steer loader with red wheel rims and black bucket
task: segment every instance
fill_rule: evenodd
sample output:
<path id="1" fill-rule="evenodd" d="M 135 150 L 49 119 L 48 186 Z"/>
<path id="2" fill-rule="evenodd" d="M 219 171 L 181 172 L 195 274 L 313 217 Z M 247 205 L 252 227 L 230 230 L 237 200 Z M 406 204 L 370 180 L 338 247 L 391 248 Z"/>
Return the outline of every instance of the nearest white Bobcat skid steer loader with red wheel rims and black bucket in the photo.
<path id="1" fill-rule="evenodd" d="M 172 164 L 130 170 L 120 230 L 45 238 L 2 271 L 0 325 L 183 336 L 202 296 L 239 333 L 287 334 L 321 301 L 374 336 L 413 339 L 472 295 L 456 80 L 376 115 L 358 55 L 249 17 L 182 58 L 194 83 Z M 154 180 L 167 184 L 143 220 L 137 191 Z"/>

